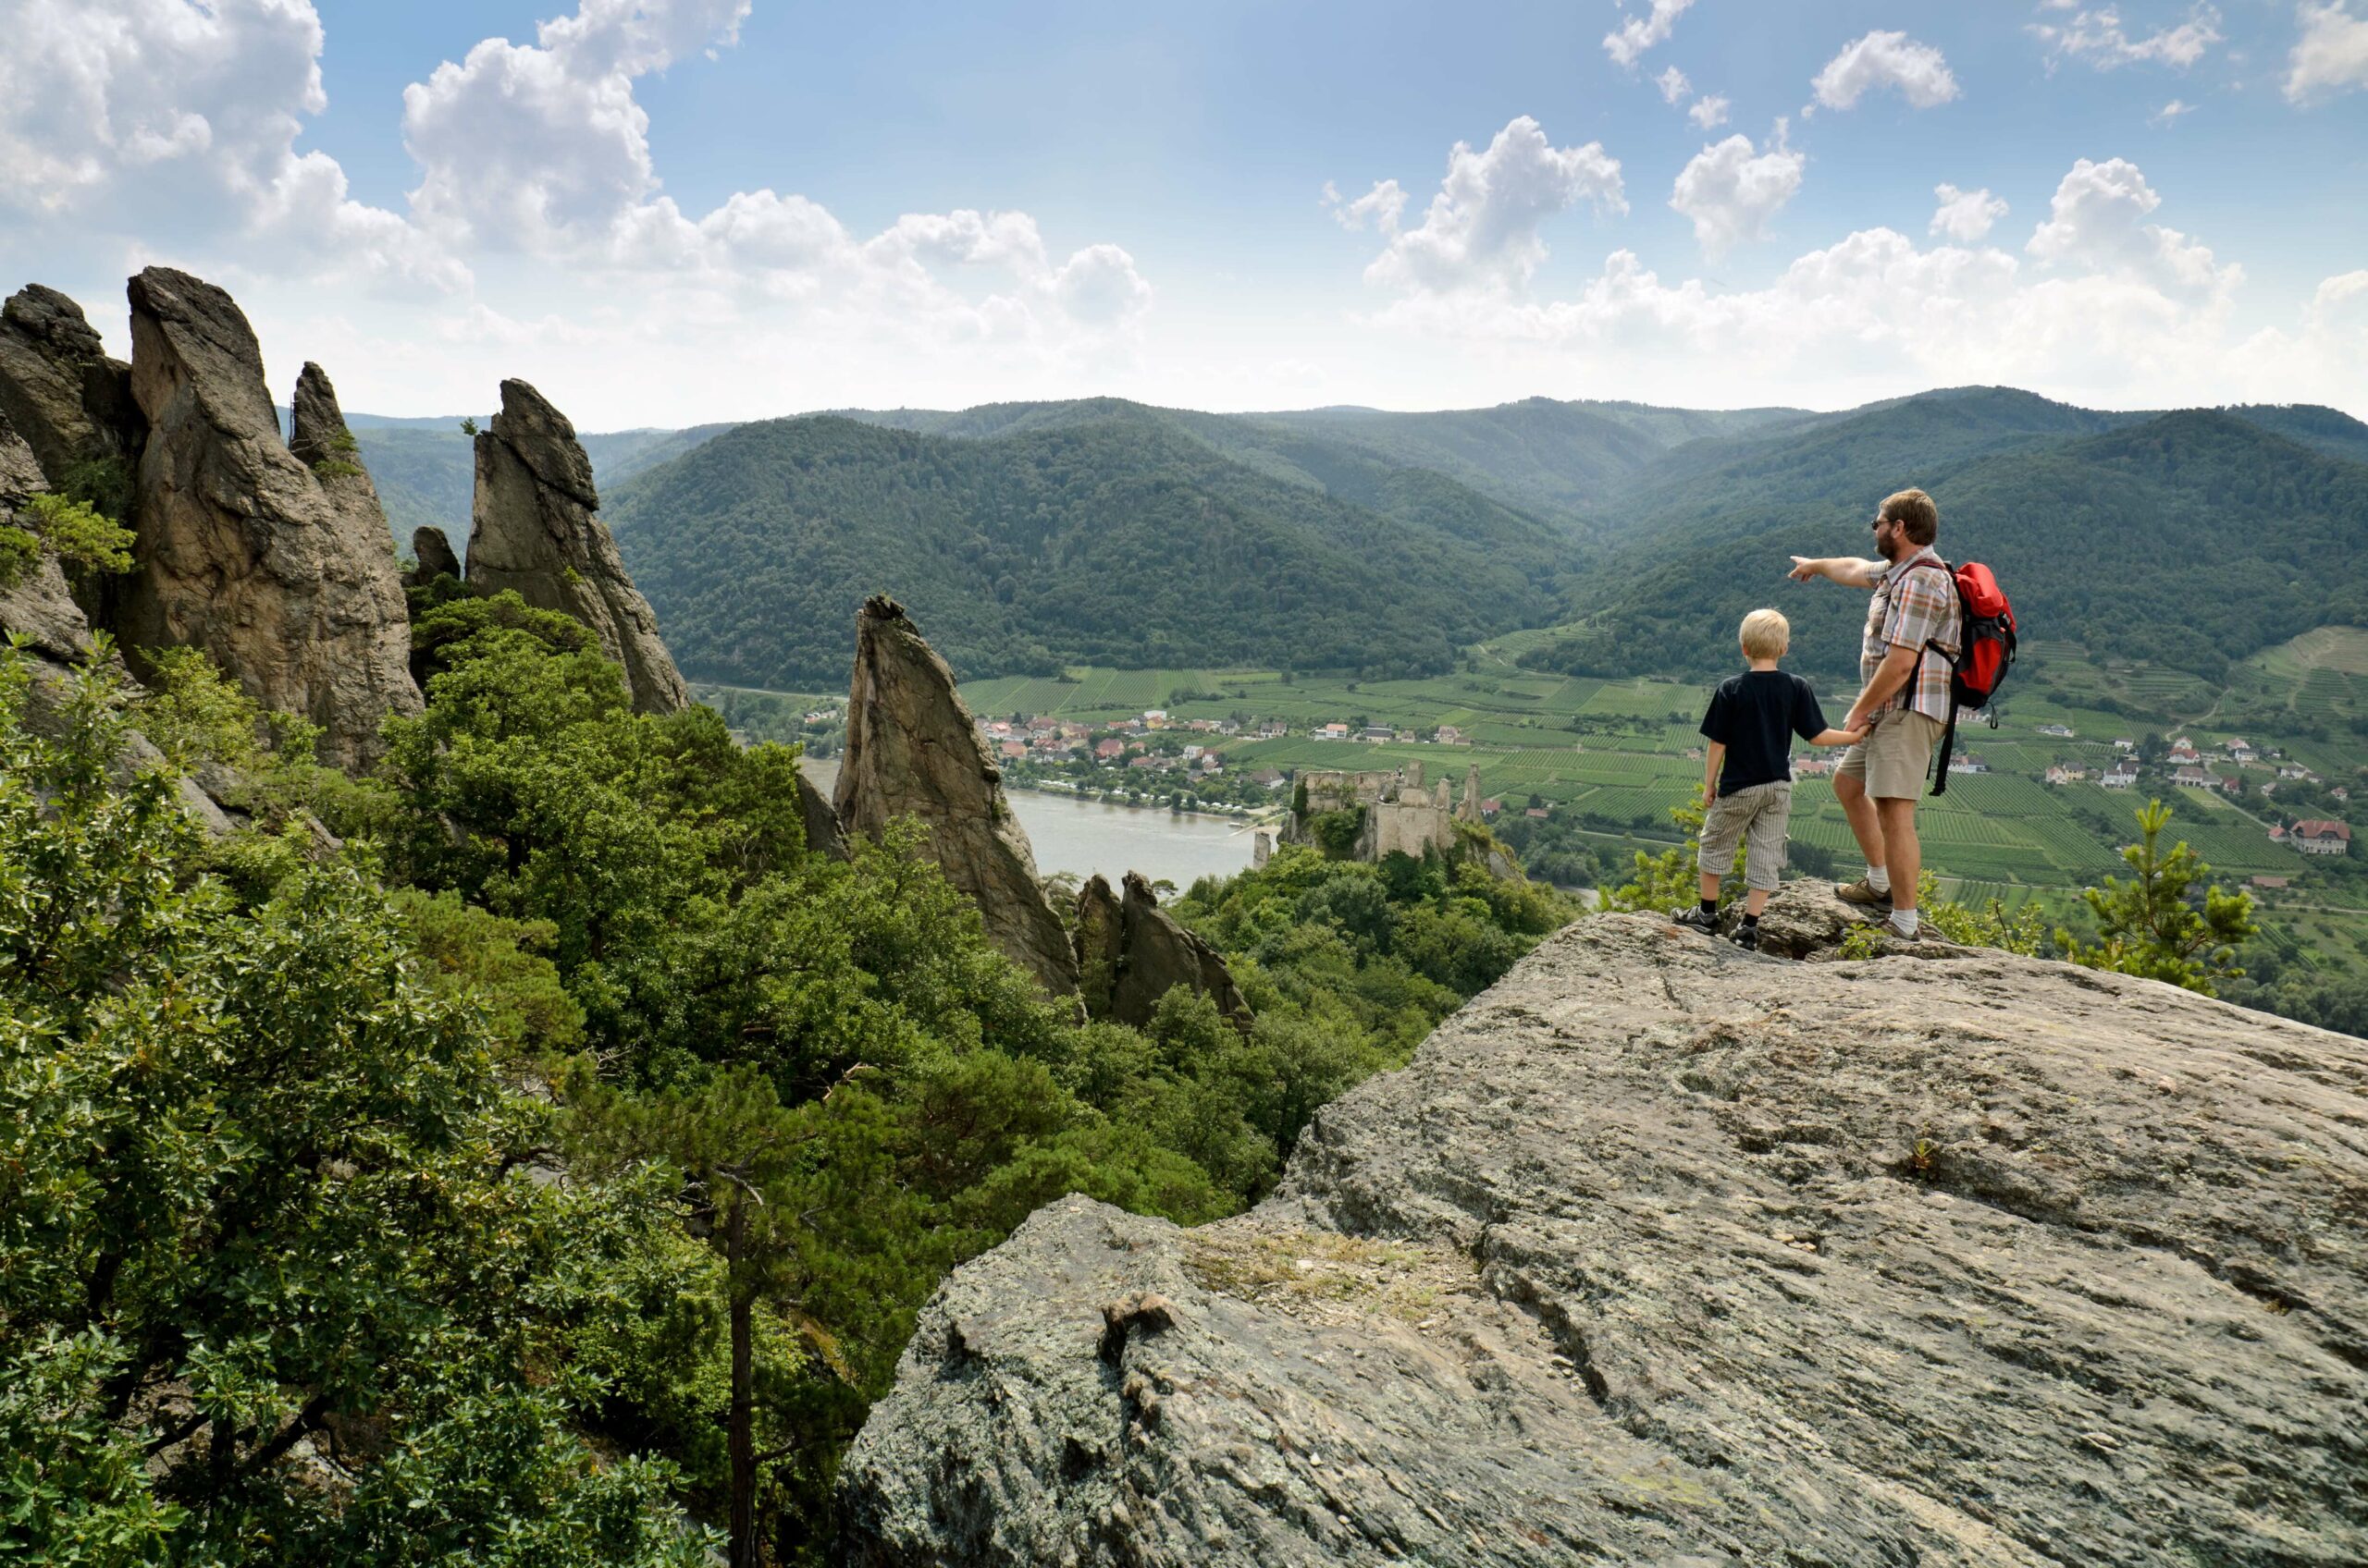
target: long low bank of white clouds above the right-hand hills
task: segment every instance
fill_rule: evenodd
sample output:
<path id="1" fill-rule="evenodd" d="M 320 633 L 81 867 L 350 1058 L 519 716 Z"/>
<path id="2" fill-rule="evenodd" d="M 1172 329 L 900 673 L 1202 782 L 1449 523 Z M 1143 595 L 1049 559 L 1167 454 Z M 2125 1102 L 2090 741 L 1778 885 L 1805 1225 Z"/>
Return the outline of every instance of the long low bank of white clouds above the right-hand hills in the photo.
<path id="1" fill-rule="evenodd" d="M 2321 282 L 2290 327 L 2238 336 L 2242 270 L 2155 225 L 2162 206 L 2134 166 L 2081 163 L 2029 256 L 1871 227 L 1729 289 L 1622 249 L 1556 298 L 1404 291 L 1362 324 L 1565 396 L 1617 379 L 1636 398 L 1717 386 L 1729 403 L 1830 407 L 1996 381 L 2108 407 L 2359 407 L 2368 270 Z"/>

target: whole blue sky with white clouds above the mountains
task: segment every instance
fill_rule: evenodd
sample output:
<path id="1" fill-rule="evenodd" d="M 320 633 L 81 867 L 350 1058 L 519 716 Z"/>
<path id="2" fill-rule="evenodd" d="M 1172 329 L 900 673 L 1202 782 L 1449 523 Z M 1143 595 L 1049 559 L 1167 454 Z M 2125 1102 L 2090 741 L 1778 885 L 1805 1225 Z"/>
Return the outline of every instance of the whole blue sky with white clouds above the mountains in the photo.
<path id="1" fill-rule="evenodd" d="M 374 412 L 528 374 L 592 429 L 1961 381 L 2368 415 L 2368 0 L 0 0 L 0 26 L 9 287 L 121 346 L 123 275 L 185 265 L 275 379 L 317 358 Z"/>

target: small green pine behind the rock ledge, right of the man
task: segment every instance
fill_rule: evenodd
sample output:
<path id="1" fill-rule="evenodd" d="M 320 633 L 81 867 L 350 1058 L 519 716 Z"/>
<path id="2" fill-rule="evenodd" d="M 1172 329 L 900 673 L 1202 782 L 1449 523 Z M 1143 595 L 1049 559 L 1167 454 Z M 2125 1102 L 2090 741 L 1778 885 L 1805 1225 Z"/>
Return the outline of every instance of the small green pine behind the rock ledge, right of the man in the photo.
<path id="1" fill-rule="evenodd" d="M 2098 938 L 2081 943 L 2058 928 L 2055 943 L 2084 969 L 2169 981 L 2207 997 L 2221 981 L 2240 978 L 2235 947 L 2257 931 L 2252 895 L 2209 886 L 2212 867 L 2183 841 L 2162 848 L 2162 829 L 2171 808 L 2148 801 L 2138 808 L 2138 841 L 2122 850 L 2131 879 L 2108 876 L 2103 888 L 2086 888 L 2081 900 L 2096 917 Z"/>

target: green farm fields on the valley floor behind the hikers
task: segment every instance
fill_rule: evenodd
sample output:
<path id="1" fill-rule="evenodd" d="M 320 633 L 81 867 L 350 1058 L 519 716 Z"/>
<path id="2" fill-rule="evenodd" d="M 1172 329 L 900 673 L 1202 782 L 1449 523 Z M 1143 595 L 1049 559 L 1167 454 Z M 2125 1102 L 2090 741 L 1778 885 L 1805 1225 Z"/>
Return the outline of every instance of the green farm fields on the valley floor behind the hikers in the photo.
<path id="1" fill-rule="evenodd" d="M 1283 720 L 1291 734 L 1255 734 L 1215 741 L 1229 770 L 1279 767 L 1404 767 L 1421 763 L 1430 779 L 1442 772 L 1461 791 L 1466 770 L 1478 765 L 1480 789 L 1518 812 L 1532 805 L 1565 817 L 1584 841 L 1617 867 L 1629 846 L 1674 843 L 1669 810 L 1700 786 L 1695 722 L 1707 685 L 1679 680 L 1594 680 L 1523 670 L 1513 663 L 1520 635 L 1468 649 L 1456 673 L 1423 680 L 1343 680 L 1283 675 L 1279 670 L 1106 670 L 1073 668 L 1061 677 L 999 677 L 961 687 L 983 718 L 1049 713 L 1075 722 L 1115 722 L 1146 708 L 1165 708 L 1175 722 L 1231 718 L 1246 727 Z M 725 706 L 727 692 L 701 689 Z M 729 696 L 739 713 L 753 711 L 755 694 Z M 1847 692 L 1821 692 L 1830 718 L 1840 718 Z M 826 699 L 784 699 L 784 708 Z M 2226 687 L 2207 687 L 2179 670 L 2100 663 L 2067 642 L 2032 642 L 1996 727 L 1963 720 L 1958 753 L 1980 758 L 1989 772 L 1956 775 L 1937 801 L 1918 812 L 1925 865 L 1958 898 L 1999 898 L 2008 907 L 2041 900 L 2055 910 L 2077 902 L 2077 891 L 2122 872 L 2119 846 L 2134 834 L 2131 815 L 2148 793 L 2174 808 L 2174 836 L 2188 841 L 2221 881 L 2254 874 L 2287 876 L 2290 888 L 2264 891 L 2264 914 L 2280 943 L 2304 962 L 2368 962 L 2368 874 L 2306 862 L 2273 843 L 2273 798 L 2259 784 L 2276 784 L 2276 767 L 2257 763 L 2214 767 L 2242 775 L 2247 791 L 2231 801 L 2221 791 L 2171 789 L 2108 791 L 2093 782 L 2044 784 L 2051 765 L 2079 767 L 2091 779 L 2115 760 L 2115 739 L 2188 734 L 2212 748 L 2245 737 L 2257 748 L 2278 748 L 2285 760 L 2309 765 L 2325 784 L 2363 782 L 2368 763 L 2368 630 L 2323 628 L 2231 666 Z M 2354 727 L 2359 720 L 2359 727 Z M 1388 725 L 1416 737 L 1452 725 L 1463 744 L 1433 741 L 1319 741 L 1317 725 L 1352 730 Z M 2041 734 L 2044 725 L 2072 737 Z M 1198 737 L 1196 737 L 1198 739 Z M 2368 812 L 2363 812 L 2368 815 Z M 1849 827 L 1823 779 L 1795 786 L 1793 838 L 1823 850 L 1838 865 L 1857 857 Z M 2368 846 L 2356 850 L 2368 872 Z"/>

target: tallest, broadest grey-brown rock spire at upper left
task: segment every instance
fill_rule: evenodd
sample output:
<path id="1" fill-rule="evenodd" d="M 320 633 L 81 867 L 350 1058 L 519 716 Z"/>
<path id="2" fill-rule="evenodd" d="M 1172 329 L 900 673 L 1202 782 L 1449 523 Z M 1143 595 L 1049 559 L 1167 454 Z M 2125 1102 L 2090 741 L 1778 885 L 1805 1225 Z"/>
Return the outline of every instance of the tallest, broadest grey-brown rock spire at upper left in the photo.
<path id="1" fill-rule="evenodd" d="M 227 294 L 149 268 L 130 301 L 149 438 L 123 644 L 197 644 L 263 706 L 320 725 L 322 760 L 367 765 L 379 720 L 419 711 L 386 523 L 339 507 L 279 441 L 263 353 Z"/>

